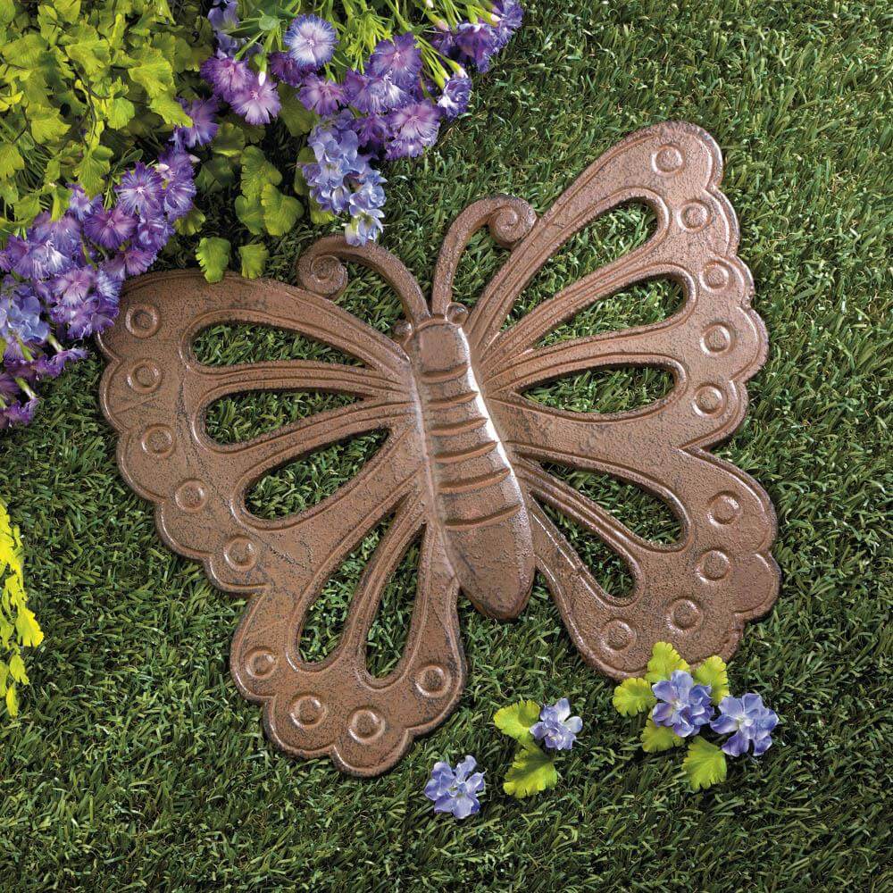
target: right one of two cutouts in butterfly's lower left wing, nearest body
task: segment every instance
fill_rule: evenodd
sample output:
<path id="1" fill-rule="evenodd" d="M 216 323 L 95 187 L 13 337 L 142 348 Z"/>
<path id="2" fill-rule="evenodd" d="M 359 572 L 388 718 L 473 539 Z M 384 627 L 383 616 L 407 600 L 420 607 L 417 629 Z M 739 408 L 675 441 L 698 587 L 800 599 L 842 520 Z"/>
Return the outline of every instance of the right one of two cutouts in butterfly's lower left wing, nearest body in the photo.
<path id="1" fill-rule="evenodd" d="M 366 669 L 372 676 L 387 676 L 403 656 L 418 588 L 424 532 L 422 529 L 406 548 L 381 593 L 378 610 L 366 633 Z"/>

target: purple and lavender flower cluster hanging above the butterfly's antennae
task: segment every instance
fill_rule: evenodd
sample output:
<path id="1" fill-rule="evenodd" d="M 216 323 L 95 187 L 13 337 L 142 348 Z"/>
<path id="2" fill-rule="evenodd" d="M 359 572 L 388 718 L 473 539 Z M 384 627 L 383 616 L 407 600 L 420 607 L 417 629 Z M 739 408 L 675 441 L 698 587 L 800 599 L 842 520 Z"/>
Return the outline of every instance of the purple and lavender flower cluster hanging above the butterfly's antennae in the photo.
<path id="1" fill-rule="evenodd" d="M 412 32 L 381 40 L 361 69 L 333 79 L 326 67 L 338 32 L 309 14 L 288 26 L 285 50 L 270 55 L 269 71 L 255 71 L 242 52 L 244 41 L 231 36 L 238 27 L 235 0 L 217 0 L 208 16 L 217 52 L 203 64 L 202 75 L 214 96 L 251 124 L 267 124 L 279 113 L 279 81 L 296 90 L 305 108 L 322 119 L 310 136 L 316 161 L 303 168 L 311 195 L 324 211 L 349 213 L 346 238 L 363 245 L 379 237 L 384 216 L 384 179 L 372 163 L 413 158 L 433 146 L 441 122 L 468 108 L 472 81 L 463 63 L 486 71 L 522 14 L 517 0 L 496 0 L 489 22 L 464 21 L 430 35 L 452 71 L 438 66 L 438 88 L 424 72 L 421 44 Z"/>

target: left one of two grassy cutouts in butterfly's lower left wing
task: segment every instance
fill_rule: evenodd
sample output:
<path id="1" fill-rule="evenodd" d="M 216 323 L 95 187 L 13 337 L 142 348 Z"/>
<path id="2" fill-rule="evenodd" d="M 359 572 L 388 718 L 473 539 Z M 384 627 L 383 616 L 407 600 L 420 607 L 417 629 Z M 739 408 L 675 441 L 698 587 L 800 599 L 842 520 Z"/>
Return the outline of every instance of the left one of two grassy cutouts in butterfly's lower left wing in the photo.
<path id="1" fill-rule="evenodd" d="M 326 580 L 305 614 L 297 643 L 301 660 L 319 663 L 338 647 L 363 571 L 392 522 L 393 515 L 389 515 L 374 527 Z"/>

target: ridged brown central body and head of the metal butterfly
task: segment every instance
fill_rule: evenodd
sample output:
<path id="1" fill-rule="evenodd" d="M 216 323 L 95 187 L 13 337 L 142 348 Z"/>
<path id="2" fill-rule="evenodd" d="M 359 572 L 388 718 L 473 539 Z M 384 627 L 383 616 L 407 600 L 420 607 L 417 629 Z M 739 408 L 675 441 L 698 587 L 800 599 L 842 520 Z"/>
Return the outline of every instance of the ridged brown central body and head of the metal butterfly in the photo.
<path id="1" fill-rule="evenodd" d="M 402 340 L 419 398 L 433 523 L 465 595 L 507 619 L 530 594 L 533 541 L 521 485 L 472 368 L 466 315 L 450 305 L 406 326 Z"/>

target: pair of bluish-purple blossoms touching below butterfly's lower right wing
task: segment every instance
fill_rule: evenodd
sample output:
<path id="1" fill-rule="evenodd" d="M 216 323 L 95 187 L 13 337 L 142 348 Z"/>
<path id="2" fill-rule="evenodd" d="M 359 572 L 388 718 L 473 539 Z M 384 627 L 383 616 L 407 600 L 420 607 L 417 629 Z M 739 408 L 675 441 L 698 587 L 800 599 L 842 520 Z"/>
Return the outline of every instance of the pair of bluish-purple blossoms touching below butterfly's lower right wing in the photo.
<path id="1" fill-rule="evenodd" d="M 779 718 L 759 695 L 747 692 L 743 697 L 723 697 L 719 716 L 714 719 L 711 687 L 696 685 L 689 672 L 674 670 L 670 679 L 655 682 L 651 690 L 658 701 L 651 713 L 655 725 L 671 728 L 680 738 L 697 735 L 709 723 L 717 734 L 733 733 L 722 744 L 730 756 L 747 753 L 748 747 L 759 756 L 772 747 L 772 730 Z"/>

